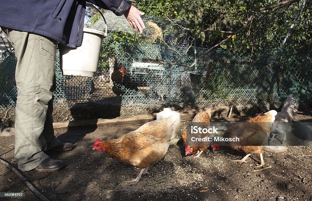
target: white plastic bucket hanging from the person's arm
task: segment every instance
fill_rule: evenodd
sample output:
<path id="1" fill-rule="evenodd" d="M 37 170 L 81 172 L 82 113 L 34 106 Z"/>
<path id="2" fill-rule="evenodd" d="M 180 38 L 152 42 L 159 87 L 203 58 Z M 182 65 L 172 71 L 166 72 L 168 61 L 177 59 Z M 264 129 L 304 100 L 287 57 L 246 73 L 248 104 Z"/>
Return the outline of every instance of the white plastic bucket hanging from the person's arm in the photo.
<path id="1" fill-rule="evenodd" d="M 60 67 L 64 75 L 93 77 L 98 67 L 103 31 L 83 28 L 82 45 L 76 49 L 60 45 Z"/>

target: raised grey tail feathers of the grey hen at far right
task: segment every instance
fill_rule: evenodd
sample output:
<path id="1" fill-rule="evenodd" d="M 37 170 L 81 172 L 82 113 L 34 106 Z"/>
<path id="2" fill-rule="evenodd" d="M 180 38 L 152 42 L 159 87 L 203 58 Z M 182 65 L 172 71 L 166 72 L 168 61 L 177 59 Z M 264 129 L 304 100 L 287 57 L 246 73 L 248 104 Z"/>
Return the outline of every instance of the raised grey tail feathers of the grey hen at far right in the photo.
<path id="1" fill-rule="evenodd" d="M 291 122 L 296 115 L 296 103 L 293 94 L 287 96 L 281 112 L 275 117 L 275 122 Z"/>

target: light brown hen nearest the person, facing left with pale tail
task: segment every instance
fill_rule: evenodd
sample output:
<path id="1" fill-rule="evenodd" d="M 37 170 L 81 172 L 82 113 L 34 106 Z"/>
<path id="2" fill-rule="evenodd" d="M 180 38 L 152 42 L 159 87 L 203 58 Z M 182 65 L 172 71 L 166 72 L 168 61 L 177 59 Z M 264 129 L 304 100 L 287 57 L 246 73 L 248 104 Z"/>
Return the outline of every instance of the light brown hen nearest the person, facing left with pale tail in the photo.
<path id="1" fill-rule="evenodd" d="M 142 174 L 148 174 L 150 164 L 157 163 L 167 153 L 169 140 L 177 115 L 161 121 L 147 122 L 135 131 L 113 140 L 95 141 L 93 150 L 105 151 L 113 158 L 142 168 L 136 179 L 127 183 L 138 183 Z"/>

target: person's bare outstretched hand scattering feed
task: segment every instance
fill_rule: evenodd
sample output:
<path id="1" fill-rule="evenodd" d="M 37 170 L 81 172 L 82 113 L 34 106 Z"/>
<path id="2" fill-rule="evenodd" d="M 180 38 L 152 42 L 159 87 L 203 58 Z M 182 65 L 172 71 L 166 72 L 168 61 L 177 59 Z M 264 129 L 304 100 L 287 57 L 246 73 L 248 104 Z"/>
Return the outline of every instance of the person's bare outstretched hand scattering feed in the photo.
<path id="1" fill-rule="evenodd" d="M 124 13 L 124 17 L 126 17 L 130 26 L 142 33 L 143 29 L 145 29 L 145 25 L 140 15 L 144 15 L 144 12 L 139 11 L 134 6 L 131 6 L 129 10 Z"/>

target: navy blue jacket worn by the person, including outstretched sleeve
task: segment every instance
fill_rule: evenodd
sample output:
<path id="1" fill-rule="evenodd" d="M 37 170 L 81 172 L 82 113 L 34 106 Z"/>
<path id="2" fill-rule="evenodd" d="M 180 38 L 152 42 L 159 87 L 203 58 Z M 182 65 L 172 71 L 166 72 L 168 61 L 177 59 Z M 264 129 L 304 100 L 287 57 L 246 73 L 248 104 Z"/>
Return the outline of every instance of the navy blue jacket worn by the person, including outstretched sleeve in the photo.
<path id="1" fill-rule="evenodd" d="M 85 2 L 121 16 L 127 0 L 1 0 L 0 26 L 49 37 L 67 47 L 82 43 Z"/>

